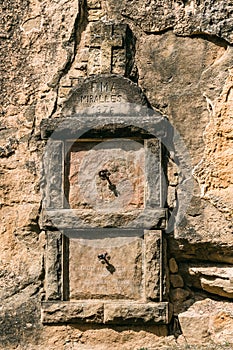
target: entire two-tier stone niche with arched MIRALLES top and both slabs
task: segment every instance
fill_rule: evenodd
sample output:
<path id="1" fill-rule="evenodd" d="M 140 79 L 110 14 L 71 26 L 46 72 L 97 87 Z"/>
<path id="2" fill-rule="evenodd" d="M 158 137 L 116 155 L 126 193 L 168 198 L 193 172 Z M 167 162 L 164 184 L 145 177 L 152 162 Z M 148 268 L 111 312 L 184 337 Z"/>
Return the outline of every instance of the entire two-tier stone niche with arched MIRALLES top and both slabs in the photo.
<path id="1" fill-rule="evenodd" d="M 132 82 L 100 75 L 41 135 L 42 322 L 169 323 L 165 119 Z"/>

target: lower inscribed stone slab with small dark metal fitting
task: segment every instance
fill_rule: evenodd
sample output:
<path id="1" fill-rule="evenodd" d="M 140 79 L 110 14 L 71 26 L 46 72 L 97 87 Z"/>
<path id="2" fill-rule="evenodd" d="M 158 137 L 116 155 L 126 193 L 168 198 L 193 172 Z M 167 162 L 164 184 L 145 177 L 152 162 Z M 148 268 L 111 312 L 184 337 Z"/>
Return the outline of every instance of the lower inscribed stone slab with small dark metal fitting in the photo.
<path id="1" fill-rule="evenodd" d="M 128 243 L 127 243 L 128 240 Z M 70 239 L 70 300 L 140 299 L 142 285 L 142 247 L 140 237 Z M 104 248 L 101 249 L 101 246 Z M 108 264 L 100 253 L 108 253 Z"/>

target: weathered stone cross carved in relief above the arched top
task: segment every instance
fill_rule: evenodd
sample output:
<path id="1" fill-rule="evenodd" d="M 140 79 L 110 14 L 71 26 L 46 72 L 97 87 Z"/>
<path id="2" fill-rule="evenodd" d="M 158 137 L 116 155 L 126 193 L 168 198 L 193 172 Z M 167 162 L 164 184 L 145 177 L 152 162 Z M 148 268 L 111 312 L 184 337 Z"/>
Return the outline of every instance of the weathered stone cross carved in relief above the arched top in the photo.
<path id="1" fill-rule="evenodd" d="M 101 73 L 112 73 L 113 50 L 124 47 L 125 36 L 125 24 L 92 24 L 90 48 L 101 50 Z"/>

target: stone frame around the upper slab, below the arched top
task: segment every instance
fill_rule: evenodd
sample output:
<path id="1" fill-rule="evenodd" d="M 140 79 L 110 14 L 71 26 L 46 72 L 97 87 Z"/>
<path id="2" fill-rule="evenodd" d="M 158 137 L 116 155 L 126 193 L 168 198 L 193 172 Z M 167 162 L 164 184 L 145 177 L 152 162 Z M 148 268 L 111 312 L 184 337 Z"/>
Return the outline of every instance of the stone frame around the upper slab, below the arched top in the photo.
<path id="1" fill-rule="evenodd" d="M 143 121 L 137 118 L 124 116 L 124 122 L 122 123 L 122 117 L 112 117 L 110 119 L 106 116 L 98 117 L 98 120 L 93 121 L 93 117 L 86 115 L 85 117 L 65 118 L 57 120 L 45 121 L 42 124 L 42 136 L 45 138 L 52 133 L 44 156 L 44 187 L 43 187 L 43 227 L 50 228 L 56 226 L 59 228 L 93 228 L 100 227 L 88 226 L 79 219 L 76 215 L 78 213 L 75 209 L 67 209 L 65 205 L 64 196 L 64 143 L 66 140 L 76 140 L 77 131 L 78 136 L 83 135 L 86 130 L 90 128 L 96 129 L 97 132 L 100 128 L 106 125 L 115 125 L 116 129 L 118 125 L 122 127 L 138 127 L 143 130 L 151 132 L 152 135 L 157 135 L 158 128 L 162 124 L 161 120 L 157 120 L 154 117 L 148 116 Z M 51 125 L 52 124 L 52 125 Z M 46 130 L 47 129 L 47 130 Z M 54 132 L 52 132 L 54 130 Z M 160 130 L 162 132 L 162 130 Z M 164 131 L 165 134 L 165 131 Z M 75 137 L 76 136 L 76 137 Z M 145 135 L 144 135 L 145 136 Z M 154 138 L 156 140 L 156 137 Z M 146 138 L 145 138 L 146 140 Z M 150 145 L 150 152 L 147 152 L 147 164 L 145 173 L 147 174 L 148 181 L 147 186 L 150 193 L 150 197 L 145 199 L 146 207 L 139 217 L 134 220 L 130 225 L 121 228 L 142 228 L 150 229 L 158 227 L 160 229 L 165 228 L 166 225 L 166 209 L 164 209 L 164 202 L 166 198 L 166 179 L 161 176 L 162 172 L 162 147 L 159 140 L 156 141 L 156 145 L 153 141 L 147 140 L 146 144 Z M 147 148 L 149 150 L 149 147 Z M 157 163 L 157 164 L 156 164 Z M 155 178 L 155 168 L 157 177 Z M 153 173 L 153 176 L 152 176 Z M 163 182 L 163 183 L 162 183 Z M 155 190 L 153 190 L 155 188 Z M 159 197 L 158 197 L 159 193 Z M 101 215 L 101 213 L 99 213 Z M 103 215 L 105 215 L 103 213 Z M 127 215 L 127 214 L 126 214 Z"/>

